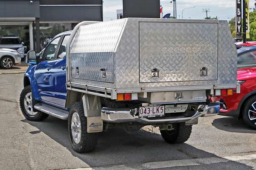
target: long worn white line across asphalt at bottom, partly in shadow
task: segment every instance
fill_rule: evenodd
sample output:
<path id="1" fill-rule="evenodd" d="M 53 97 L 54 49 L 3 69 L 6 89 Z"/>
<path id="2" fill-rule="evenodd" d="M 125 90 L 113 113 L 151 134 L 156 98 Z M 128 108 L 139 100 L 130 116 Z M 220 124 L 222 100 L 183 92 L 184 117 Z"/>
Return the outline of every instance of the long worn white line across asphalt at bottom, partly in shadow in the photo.
<path id="1" fill-rule="evenodd" d="M 203 164 L 215 164 L 227 161 L 241 161 L 241 160 L 251 160 L 256 159 L 256 154 L 237 154 L 232 156 L 223 157 L 209 157 L 209 158 L 198 158 L 198 159 L 182 159 L 182 160 L 171 160 L 171 161 L 157 161 L 148 162 L 143 164 L 124 164 L 124 165 L 114 165 L 107 167 L 87 167 L 69 170 L 147 170 L 156 168 L 166 168 L 166 167 L 183 167 L 192 165 L 203 165 Z M 66 169 L 67 170 L 67 169 Z"/>

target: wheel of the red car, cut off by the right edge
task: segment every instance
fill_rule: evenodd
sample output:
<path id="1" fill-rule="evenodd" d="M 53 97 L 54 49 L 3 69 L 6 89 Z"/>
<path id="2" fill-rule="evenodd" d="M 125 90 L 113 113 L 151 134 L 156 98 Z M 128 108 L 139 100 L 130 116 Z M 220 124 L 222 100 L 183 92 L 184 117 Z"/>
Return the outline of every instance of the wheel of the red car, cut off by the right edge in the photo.
<path id="1" fill-rule="evenodd" d="M 244 122 L 253 129 L 256 129 L 256 96 L 247 100 L 243 110 Z"/>

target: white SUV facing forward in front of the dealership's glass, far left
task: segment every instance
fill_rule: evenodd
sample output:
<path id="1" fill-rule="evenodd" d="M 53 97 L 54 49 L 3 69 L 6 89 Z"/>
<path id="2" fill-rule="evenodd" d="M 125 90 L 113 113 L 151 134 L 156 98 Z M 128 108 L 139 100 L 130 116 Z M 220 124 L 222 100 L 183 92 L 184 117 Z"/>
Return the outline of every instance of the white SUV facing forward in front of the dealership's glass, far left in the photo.
<path id="1" fill-rule="evenodd" d="M 24 58 L 24 46 L 19 37 L 6 36 L 0 39 L 0 48 L 11 48 L 20 54 L 20 58 Z"/>

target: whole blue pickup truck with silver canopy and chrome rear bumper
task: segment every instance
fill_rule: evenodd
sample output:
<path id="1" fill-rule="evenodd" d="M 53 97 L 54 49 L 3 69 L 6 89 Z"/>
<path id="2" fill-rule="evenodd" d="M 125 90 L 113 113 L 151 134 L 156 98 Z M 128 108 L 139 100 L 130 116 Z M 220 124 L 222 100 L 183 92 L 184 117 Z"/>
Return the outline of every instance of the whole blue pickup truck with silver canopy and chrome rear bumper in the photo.
<path id="1" fill-rule="evenodd" d="M 219 23 L 227 28 L 222 30 L 218 21 L 212 22 L 195 25 L 195 21 L 182 21 L 177 25 L 172 20 L 140 18 L 81 22 L 73 31 L 53 37 L 41 53 L 28 52 L 30 65 L 20 94 L 21 111 L 30 121 L 42 121 L 49 115 L 68 120 L 70 142 L 78 153 L 94 150 L 99 133 L 109 128 L 135 131 L 152 125 L 159 127 L 166 142 L 186 142 L 198 117 L 218 114 L 219 103 L 210 102 L 209 96 L 236 87 L 236 68 L 229 79 L 215 80 L 217 73 L 227 74 L 227 65 L 236 64 L 236 57 L 231 55 L 236 54 L 236 48 L 231 41 L 225 42 L 231 54 L 219 45 L 224 52 L 218 55 L 217 37 L 232 37 L 227 23 Z M 180 25 L 183 32 L 197 26 L 196 34 L 202 34 L 212 48 L 197 43 L 199 47 L 193 47 L 196 51 L 186 51 L 186 45 L 191 46 L 187 43 L 198 39 L 178 33 L 180 37 L 175 40 L 184 48 L 172 44 L 173 34 L 165 34 L 166 42 L 158 45 L 163 43 L 160 30 L 171 26 L 178 30 Z M 203 26 L 209 29 L 200 31 Z M 225 60 L 218 62 L 217 57 Z"/>

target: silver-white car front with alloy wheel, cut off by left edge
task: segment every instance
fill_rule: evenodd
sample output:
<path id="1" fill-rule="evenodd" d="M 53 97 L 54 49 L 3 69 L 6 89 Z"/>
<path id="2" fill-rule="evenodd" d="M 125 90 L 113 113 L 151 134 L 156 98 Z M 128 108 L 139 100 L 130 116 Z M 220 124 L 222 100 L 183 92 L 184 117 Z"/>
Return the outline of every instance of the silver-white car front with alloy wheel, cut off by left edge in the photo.
<path id="1" fill-rule="evenodd" d="M 12 68 L 13 65 L 20 64 L 20 54 L 13 49 L 0 48 L 0 66 L 1 68 Z"/>

